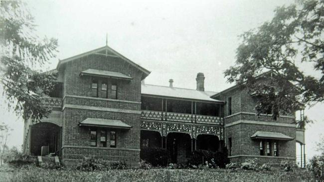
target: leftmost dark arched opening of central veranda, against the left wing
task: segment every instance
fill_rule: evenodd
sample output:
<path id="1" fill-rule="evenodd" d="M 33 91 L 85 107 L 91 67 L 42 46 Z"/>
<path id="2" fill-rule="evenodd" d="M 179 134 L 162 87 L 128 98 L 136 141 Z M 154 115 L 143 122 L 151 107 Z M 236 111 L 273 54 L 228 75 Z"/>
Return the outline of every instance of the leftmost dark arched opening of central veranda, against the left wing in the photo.
<path id="1" fill-rule="evenodd" d="M 141 148 L 162 147 L 162 137 L 157 131 L 141 130 Z"/>

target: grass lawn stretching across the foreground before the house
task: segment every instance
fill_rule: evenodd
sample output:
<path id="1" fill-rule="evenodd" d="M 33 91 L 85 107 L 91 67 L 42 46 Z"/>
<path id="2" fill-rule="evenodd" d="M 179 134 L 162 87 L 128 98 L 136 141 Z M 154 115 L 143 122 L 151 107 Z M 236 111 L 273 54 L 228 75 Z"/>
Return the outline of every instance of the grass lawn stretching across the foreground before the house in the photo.
<path id="1" fill-rule="evenodd" d="M 38 167 L 0 168 L 2 182 L 316 182 L 306 170 L 294 172 L 245 171 L 225 169 L 205 170 L 110 170 L 81 172 L 47 170 Z"/>

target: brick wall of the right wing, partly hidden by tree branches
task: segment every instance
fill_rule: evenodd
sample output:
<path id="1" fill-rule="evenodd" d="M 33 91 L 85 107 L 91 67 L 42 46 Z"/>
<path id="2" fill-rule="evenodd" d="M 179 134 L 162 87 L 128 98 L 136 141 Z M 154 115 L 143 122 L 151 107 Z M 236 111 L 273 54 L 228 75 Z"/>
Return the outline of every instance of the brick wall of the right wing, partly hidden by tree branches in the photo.
<path id="1" fill-rule="evenodd" d="M 232 114 L 228 115 L 228 98 L 232 98 Z M 271 115 L 255 114 L 256 98 L 250 96 L 247 89 L 234 88 L 225 93 L 221 93 L 217 99 L 225 100 L 225 141 L 229 148 L 229 140 L 232 140 L 231 161 L 242 162 L 245 159 L 258 158 L 260 163 L 280 163 L 281 160 L 296 158 L 296 141 L 276 141 L 278 145 L 278 157 L 274 156 L 274 142 L 271 141 L 271 156 L 260 156 L 260 140 L 252 140 L 250 137 L 257 131 L 279 132 L 292 138 L 296 137 L 296 128 L 294 126 L 287 127 L 295 122 L 294 114 L 289 116 L 281 116 L 277 120 L 273 120 Z M 259 124 L 238 123 L 228 125 L 233 122 L 255 121 Z M 260 123 L 261 122 L 261 123 Z M 262 122 L 267 122 L 262 125 Z M 276 123 L 274 126 L 270 123 Z M 228 125 L 228 126 L 226 126 Z M 266 142 L 266 141 L 264 141 Z M 264 148 L 266 151 L 266 148 Z"/>

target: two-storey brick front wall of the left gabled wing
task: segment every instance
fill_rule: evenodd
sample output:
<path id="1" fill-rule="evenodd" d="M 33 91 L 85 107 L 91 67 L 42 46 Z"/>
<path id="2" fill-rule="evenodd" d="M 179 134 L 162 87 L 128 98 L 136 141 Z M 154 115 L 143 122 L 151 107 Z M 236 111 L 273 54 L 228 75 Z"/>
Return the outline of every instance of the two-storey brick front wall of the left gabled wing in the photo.
<path id="1" fill-rule="evenodd" d="M 97 77 L 98 97 L 91 97 L 91 76 L 79 76 L 81 71 L 87 69 L 121 72 L 133 79 L 129 81 Z M 138 164 L 140 162 L 142 72 L 120 58 L 89 55 L 67 62 L 62 66 L 60 74 L 63 74 L 64 80 L 62 128 L 64 161 L 81 160 L 83 156 L 97 156 L 110 161 L 128 161 L 133 165 Z M 101 84 L 104 81 L 108 81 L 108 95 L 111 94 L 109 89 L 111 84 L 117 82 L 117 100 L 101 98 Z M 110 112 L 100 108 L 115 110 Z M 123 130 L 78 126 L 79 122 L 87 118 L 120 120 L 132 128 Z M 96 147 L 91 147 L 91 129 L 97 131 Z M 100 131 L 106 131 L 108 134 L 107 147 L 103 147 L 100 142 Z M 117 134 L 116 148 L 111 148 L 108 143 L 110 131 L 115 131 Z"/>

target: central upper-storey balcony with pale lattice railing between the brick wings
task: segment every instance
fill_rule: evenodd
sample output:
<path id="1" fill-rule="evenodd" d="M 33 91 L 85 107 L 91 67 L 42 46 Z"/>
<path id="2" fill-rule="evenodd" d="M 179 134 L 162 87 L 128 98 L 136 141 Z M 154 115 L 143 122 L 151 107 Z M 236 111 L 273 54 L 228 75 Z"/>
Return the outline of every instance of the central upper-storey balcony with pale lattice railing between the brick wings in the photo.
<path id="1" fill-rule="evenodd" d="M 141 119 L 224 125 L 223 105 L 142 96 Z"/>

